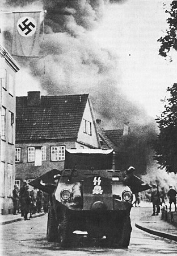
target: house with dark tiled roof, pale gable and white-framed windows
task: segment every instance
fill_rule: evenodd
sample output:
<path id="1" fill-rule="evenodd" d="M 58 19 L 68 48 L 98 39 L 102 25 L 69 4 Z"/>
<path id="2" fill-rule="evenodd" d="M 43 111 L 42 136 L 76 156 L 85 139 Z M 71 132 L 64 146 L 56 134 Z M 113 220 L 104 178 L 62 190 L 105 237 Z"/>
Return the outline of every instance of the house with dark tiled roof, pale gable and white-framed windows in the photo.
<path id="1" fill-rule="evenodd" d="M 16 97 L 16 183 L 62 170 L 65 149 L 100 148 L 88 94 Z"/>

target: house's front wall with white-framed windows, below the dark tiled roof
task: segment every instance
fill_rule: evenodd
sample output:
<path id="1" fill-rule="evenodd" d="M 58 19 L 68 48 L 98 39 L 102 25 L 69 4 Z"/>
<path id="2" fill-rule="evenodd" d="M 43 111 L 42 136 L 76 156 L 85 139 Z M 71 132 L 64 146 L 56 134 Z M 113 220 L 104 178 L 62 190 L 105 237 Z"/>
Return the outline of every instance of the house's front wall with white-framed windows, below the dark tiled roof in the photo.
<path id="1" fill-rule="evenodd" d="M 33 180 L 52 169 L 63 170 L 65 149 L 75 148 L 75 141 L 17 143 L 15 146 L 15 180 Z"/>

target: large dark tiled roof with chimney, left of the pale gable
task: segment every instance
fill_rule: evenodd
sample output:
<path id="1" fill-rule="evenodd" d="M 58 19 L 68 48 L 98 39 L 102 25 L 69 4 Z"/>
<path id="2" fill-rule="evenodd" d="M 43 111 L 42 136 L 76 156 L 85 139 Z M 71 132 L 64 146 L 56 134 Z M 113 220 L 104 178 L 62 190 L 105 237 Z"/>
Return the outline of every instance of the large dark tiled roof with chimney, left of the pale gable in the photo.
<path id="1" fill-rule="evenodd" d="M 40 97 L 40 92 L 28 93 L 28 97 L 16 97 L 16 141 L 77 138 L 88 94 Z M 37 100 L 29 102 L 34 95 Z"/>

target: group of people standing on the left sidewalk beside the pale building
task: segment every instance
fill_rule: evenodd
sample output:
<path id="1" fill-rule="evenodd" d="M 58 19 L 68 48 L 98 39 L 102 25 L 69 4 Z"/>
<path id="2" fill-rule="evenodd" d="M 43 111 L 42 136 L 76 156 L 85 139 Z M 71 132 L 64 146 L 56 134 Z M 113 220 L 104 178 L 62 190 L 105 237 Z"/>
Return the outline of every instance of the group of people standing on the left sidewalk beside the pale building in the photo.
<path id="1" fill-rule="evenodd" d="M 21 213 L 24 220 L 30 220 L 32 214 L 41 213 L 42 208 L 44 213 L 48 213 L 49 195 L 36 188 L 30 191 L 26 180 L 23 181 L 23 185 L 20 188 L 18 185 L 14 185 L 12 193 L 14 215 Z M 30 214 L 29 218 L 28 213 Z"/>

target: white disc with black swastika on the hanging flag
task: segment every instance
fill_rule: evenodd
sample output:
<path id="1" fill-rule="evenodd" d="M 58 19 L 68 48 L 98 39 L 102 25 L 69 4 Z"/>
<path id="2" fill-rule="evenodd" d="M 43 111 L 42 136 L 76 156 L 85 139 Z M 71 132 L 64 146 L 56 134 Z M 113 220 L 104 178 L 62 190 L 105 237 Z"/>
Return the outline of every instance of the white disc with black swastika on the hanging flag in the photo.
<path id="1" fill-rule="evenodd" d="M 22 17 L 16 24 L 17 30 L 22 36 L 32 36 L 35 34 L 36 26 L 36 21 L 32 17 Z"/>

